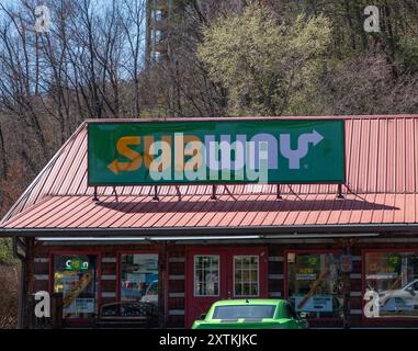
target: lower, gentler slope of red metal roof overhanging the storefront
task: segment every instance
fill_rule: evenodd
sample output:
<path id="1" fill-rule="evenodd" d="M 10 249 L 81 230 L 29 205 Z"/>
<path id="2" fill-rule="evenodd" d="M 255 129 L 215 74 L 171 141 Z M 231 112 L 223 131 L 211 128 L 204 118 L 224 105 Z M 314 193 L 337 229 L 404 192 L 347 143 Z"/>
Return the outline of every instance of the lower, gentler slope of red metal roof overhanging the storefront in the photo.
<path id="1" fill-rule="evenodd" d="M 7 223 L 8 228 L 184 228 L 418 223 L 418 194 L 274 194 L 163 196 L 49 196 Z"/>

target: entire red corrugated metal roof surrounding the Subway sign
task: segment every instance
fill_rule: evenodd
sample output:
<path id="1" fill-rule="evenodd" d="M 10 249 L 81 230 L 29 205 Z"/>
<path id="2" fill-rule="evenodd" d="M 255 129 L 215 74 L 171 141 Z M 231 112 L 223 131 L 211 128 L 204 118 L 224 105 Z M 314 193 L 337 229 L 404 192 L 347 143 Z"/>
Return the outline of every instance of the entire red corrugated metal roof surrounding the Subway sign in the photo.
<path id="1" fill-rule="evenodd" d="M 247 184 L 218 185 L 221 195 L 216 201 L 210 199 L 212 185 L 158 186 L 159 202 L 152 201 L 152 186 L 99 186 L 101 201 L 95 203 L 93 188 L 87 184 L 87 123 L 83 123 L 0 226 L 112 228 L 418 223 L 418 115 L 341 118 L 346 120 L 349 190 L 346 189 L 344 200 L 336 199 L 337 185 L 302 184 L 291 189 L 282 185 L 284 200 L 278 201 L 276 185 Z M 115 201 L 114 191 L 120 202 Z M 177 196 L 179 192 L 181 201 Z"/>

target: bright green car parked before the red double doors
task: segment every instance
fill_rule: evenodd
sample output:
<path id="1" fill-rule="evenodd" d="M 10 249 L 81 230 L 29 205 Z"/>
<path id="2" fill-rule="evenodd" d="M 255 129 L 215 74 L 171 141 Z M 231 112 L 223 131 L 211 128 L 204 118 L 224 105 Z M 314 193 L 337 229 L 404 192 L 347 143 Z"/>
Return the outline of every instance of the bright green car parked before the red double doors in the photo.
<path id="1" fill-rule="evenodd" d="M 307 329 L 308 322 L 285 299 L 224 299 L 214 303 L 192 329 Z"/>

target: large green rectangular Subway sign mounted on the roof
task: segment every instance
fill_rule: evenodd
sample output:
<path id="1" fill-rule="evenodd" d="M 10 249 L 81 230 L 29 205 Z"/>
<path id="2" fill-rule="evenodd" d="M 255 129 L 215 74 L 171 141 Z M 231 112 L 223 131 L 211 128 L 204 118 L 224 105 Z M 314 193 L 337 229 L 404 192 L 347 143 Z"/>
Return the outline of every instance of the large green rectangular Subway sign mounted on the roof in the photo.
<path id="1" fill-rule="evenodd" d="M 343 183 L 342 120 L 90 122 L 89 185 Z"/>

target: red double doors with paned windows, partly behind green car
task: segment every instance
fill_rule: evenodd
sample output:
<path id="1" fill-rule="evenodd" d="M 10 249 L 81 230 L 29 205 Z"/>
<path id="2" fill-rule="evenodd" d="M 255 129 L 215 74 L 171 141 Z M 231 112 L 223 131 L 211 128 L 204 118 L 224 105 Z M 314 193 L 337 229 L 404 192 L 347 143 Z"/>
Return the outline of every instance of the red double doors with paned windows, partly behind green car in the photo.
<path id="1" fill-rule="evenodd" d="M 187 263 L 185 325 L 225 298 L 266 298 L 266 248 L 195 249 Z"/>

